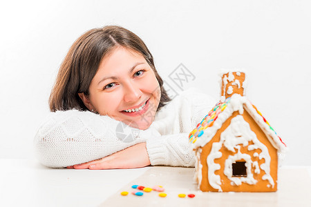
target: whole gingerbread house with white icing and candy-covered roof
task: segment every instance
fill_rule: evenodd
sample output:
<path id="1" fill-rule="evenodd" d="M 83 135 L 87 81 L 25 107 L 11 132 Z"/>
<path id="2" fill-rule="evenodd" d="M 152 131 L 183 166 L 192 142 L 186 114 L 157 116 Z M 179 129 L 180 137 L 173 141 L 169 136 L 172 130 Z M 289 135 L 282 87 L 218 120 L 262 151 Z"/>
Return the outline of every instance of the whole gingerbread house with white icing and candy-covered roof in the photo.
<path id="1" fill-rule="evenodd" d="M 245 97 L 245 72 L 224 72 L 221 98 L 189 134 L 202 191 L 273 192 L 286 146 Z"/>

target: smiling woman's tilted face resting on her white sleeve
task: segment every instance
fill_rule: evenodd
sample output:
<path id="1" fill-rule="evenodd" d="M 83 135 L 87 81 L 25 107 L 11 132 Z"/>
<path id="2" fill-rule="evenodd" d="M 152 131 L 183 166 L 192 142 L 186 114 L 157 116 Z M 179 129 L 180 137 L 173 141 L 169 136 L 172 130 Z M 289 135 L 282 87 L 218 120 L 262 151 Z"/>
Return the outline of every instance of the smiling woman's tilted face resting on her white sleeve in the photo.
<path id="1" fill-rule="evenodd" d="M 118 47 L 106 55 L 89 88 L 79 96 L 89 110 L 145 130 L 152 124 L 160 103 L 160 86 L 142 55 Z"/>

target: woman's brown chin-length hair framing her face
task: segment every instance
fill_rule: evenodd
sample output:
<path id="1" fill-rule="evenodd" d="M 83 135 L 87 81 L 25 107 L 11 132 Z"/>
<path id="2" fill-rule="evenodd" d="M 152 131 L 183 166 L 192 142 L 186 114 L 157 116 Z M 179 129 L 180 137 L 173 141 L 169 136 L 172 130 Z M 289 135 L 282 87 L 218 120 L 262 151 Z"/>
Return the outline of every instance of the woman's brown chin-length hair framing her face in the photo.
<path id="1" fill-rule="evenodd" d="M 88 88 L 95 76 L 100 62 L 115 47 L 123 46 L 139 52 L 153 69 L 160 85 L 161 98 L 158 110 L 171 101 L 163 88 L 163 80 L 156 70 L 153 56 L 144 41 L 133 32 L 120 26 L 105 26 L 88 30 L 70 47 L 48 100 L 50 111 L 56 110 L 88 110 L 78 93 L 88 96 Z"/>

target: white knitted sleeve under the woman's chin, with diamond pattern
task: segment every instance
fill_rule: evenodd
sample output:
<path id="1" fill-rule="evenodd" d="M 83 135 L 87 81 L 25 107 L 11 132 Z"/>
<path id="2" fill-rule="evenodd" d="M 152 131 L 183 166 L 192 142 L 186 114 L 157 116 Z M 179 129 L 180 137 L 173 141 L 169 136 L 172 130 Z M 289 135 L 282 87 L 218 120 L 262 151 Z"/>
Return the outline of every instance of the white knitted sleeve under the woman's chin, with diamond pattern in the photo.
<path id="1" fill-rule="evenodd" d="M 33 141 L 35 157 L 50 168 L 64 168 L 101 159 L 158 137 L 156 130 L 138 130 L 93 112 L 51 112 Z"/>

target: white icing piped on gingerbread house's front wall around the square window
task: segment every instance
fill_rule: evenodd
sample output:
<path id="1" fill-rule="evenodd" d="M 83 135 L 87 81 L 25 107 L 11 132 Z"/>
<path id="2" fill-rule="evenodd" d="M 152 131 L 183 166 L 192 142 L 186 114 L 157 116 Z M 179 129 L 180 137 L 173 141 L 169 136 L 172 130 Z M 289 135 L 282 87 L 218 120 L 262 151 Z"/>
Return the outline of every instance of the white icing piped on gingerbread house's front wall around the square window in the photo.
<path id="1" fill-rule="evenodd" d="M 249 143 L 254 143 L 249 145 Z M 270 154 L 267 147 L 262 144 L 256 137 L 256 134 L 251 130 L 247 121 L 243 119 L 243 116 L 238 115 L 231 120 L 230 125 L 221 133 L 220 142 L 213 143 L 211 147 L 211 152 L 207 157 L 207 166 L 208 166 L 208 176 L 209 176 L 209 184 L 218 189 L 218 191 L 222 191 L 220 187 L 220 176 L 215 174 L 216 170 L 220 169 L 219 164 L 215 164 L 214 160 L 222 157 L 222 153 L 219 152 L 221 148 L 225 147 L 227 150 L 232 152 L 238 151 L 234 156 L 229 155 L 229 157 L 225 160 L 225 169 L 224 174 L 232 181 L 232 185 L 239 186 L 242 182 L 245 182 L 249 185 L 256 184 L 256 179 L 254 179 L 252 175 L 252 157 L 248 154 L 242 154 L 240 149 L 241 145 L 243 147 L 247 147 L 247 150 L 252 151 L 255 149 L 261 149 L 261 153 L 259 155 L 259 159 L 265 159 L 265 163 L 261 164 L 261 170 L 265 171 L 265 175 L 263 175 L 262 179 L 267 179 L 272 188 L 274 187 L 274 180 L 270 175 Z M 236 161 L 243 159 L 246 161 L 245 166 L 247 169 L 247 177 L 232 177 L 232 164 Z M 254 164 L 258 166 L 258 162 Z M 260 169 L 256 168 L 256 173 L 260 173 Z"/>

